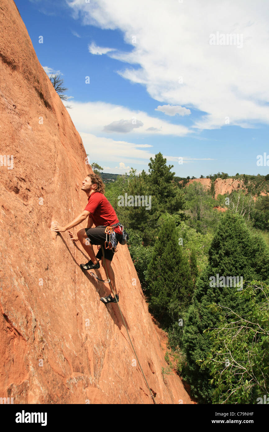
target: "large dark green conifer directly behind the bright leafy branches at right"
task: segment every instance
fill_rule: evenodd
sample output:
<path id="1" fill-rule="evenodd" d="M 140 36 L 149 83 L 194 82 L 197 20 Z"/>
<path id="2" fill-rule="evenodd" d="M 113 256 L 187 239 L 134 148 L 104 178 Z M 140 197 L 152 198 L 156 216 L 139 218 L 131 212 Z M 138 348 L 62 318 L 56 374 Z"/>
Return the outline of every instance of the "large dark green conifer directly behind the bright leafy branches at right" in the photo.
<path id="1" fill-rule="evenodd" d="M 214 387 L 210 384 L 210 370 L 203 370 L 197 360 L 206 360 L 212 341 L 203 333 L 206 328 L 216 327 L 220 313 L 212 310 L 212 303 L 222 304 L 236 313 L 247 313 L 247 305 L 235 295 L 236 287 L 210 286 L 210 278 L 216 275 L 242 276 L 244 280 L 268 280 L 269 253 L 260 237 L 253 237 L 242 216 L 226 212 L 216 230 L 209 248 L 209 264 L 196 281 L 193 304 L 190 305 L 184 327 L 184 351 L 187 366 L 184 379 L 191 385 L 193 394 L 203 403 L 211 403 Z"/>

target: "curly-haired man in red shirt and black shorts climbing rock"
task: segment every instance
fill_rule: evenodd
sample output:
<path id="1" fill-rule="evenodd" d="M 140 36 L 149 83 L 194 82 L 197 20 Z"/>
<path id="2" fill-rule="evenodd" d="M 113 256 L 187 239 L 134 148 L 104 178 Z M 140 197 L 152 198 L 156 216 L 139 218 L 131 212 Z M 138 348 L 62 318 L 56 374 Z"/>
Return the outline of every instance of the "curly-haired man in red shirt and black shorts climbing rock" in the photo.
<path id="1" fill-rule="evenodd" d="M 113 249 L 104 247 L 104 257 L 102 253 L 102 249 L 100 248 L 97 255 L 93 251 L 92 245 L 108 245 L 106 243 L 107 234 L 105 233 L 105 229 L 107 226 L 112 226 L 111 230 L 112 238 L 114 238 L 114 245 L 117 246 L 119 240 L 122 239 L 122 230 L 123 226 L 120 224 L 117 215 L 115 213 L 114 208 L 111 206 L 111 203 L 104 196 L 104 183 L 101 178 L 96 174 L 89 174 L 82 181 L 82 191 L 84 191 L 88 197 L 88 204 L 82 213 L 79 214 L 72 222 L 68 225 L 54 226 L 51 228 L 52 231 L 55 232 L 69 232 L 71 240 L 80 241 L 83 248 L 87 252 L 90 257 L 90 260 L 86 264 L 80 264 L 80 267 L 83 270 L 90 269 L 98 269 L 100 268 L 100 264 L 98 259 L 102 258 L 102 266 L 106 265 L 108 275 L 107 277 L 111 281 L 112 289 L 115 293 L 117 301 L 119 301 L 119 295 L 117 294 L 117 289 L 115 285 L 115 275 L 114 271 L 111 267 L 111 261 L 114 256 Z M 70 228 L 79 225 L 83 220 L 88 217 L 88 223 L 86 228 L 79 229 L 77 232 L 77 237 L 74 237 L 72 232 L 70 232 Z M 93 223 L 95 224 L 95 228 L 92 228 Z M 114 231 L 114 233 L 113 233 Z M 104 262 L 105 260 L 105 262 Z M 101 297 L 101 302 L 108 303 L 116 303 L 116 299 L 112 297 L 112 292 L 106 297 Z"/>

